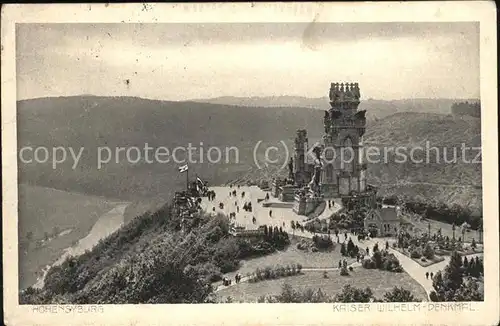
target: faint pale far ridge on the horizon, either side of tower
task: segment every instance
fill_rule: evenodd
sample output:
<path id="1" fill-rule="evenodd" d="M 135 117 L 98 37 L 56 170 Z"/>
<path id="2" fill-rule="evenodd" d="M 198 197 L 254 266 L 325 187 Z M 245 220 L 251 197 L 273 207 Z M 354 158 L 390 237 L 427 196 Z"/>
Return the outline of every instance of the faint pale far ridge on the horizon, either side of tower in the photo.
<path id="1" fill-rule="evenodd" d="M 319 110 L 330 108 L 328 97 L 308 98 L 302 96 L 235 97 L 222 96 L 209 99 L 195 99 L 195 102 L 235 105 L 246 107 L 303 107 Z M 478 99 L 362 99 L 359 108 L 367 110 L 368 118 L 383 118 L 397 112 L 425 112 L 450 114 L 451 106 L 457 101 L 478 102 Z"/>

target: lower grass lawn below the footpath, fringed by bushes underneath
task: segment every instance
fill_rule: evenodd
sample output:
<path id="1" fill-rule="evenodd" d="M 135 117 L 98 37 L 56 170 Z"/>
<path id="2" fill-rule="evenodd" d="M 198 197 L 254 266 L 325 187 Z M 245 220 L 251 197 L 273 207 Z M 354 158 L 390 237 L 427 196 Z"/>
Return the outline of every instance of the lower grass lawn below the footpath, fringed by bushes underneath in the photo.
<path id="1" fill-rule="evenodd" d="M 258 283 L 240 283 L 217 292 L 220 300 L 231 297 L 234 302 L 256 302 L 262 295 L 277 295 L 283 284 L 288 283 L 294 289 L 318 290 L 323 293 L 336 295 L 342 287 L 351 284 L 357 288 L 370 287 L 376 298 L 383 298 L 384 293 L 395 286 L 410 290 L 420 300 L 426 300 L 425 290 L 406 273 L 392 273 L 380 270 L 367 270 L 362 267 L 354 269 L 349 276 L 340 276 L 339 272 L 328 272 L 328 278 L 323 272 L 304 272 L 302 275 L 290 276 L 278 280 L 262 281 Z"/>

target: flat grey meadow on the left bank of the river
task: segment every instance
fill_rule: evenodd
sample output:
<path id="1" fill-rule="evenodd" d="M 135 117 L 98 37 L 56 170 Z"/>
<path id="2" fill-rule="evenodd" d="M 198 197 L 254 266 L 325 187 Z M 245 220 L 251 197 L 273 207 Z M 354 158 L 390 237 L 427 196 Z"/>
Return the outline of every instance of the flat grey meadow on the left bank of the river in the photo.
<path id="1" fill-rule="evenodd" d="M 36 281 L 36 274 L 47 264 L 57 260 L 63 249 L 85 237 L 99 217 L 116 206 L 116 201 L 101 197 L 68 193 L 50 188 L 19 186 L 19 242 L 28 243 L 19 251 L 19 282 L 25 288 Z M 71 232 L 56 237 L 46 245 L 36 242 L 44 233 Z M 33 239 L 26 235 L 32 232 Z"/>

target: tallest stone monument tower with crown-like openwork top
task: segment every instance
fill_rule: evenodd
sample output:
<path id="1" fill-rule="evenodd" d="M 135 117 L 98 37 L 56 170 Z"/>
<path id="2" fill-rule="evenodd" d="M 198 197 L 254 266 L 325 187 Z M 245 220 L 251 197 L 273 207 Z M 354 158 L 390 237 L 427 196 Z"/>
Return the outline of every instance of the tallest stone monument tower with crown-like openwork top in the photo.
<path id="1" fill-rule="evenodd" d="M 365 111 L 358 111 L 358 83 L 332 83 L 330 106 L 325 111 L 321 193 L 325 198 L 346 196 L 366 190 L 363 163 Z"/>

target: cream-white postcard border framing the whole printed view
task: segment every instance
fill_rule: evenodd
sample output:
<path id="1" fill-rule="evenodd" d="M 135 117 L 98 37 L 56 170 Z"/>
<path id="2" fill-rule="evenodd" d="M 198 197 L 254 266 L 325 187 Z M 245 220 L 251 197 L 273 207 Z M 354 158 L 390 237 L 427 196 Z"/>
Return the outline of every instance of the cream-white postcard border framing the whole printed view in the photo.
<path id="1" fill-rule="evenodd" d="M 480 22 L 485 301 L 462 312 L 335 312 L 333 304 L 18 305 L 15 24 L 41 22 Z M 492 324 L 499 316 L 496 11 L 487 1 L 413 3 L 50 4 L 2 7 L 2 193 L 7 324 Z M 332 77 L 333 78 L 333 77 Z M 382 77 L 381 77 L 382 78 Z M 388 304 L 395 307 L 397 304 Z M 348 305 L 353 309 L 356 304 Z M 69 309 L 76 307 L 75 309 Z M 93 307 L 93 308 L 90 308 Z M 443 306 L 444 307 L 444 306 Z M 47 308 L 47 309 L 46 309 Z M 54 309 L 54 311 L 51 311 Z M 91 312 L 91 309 L 95 309 Z M 102 309 L 102 312 L 101 312 Z M 474 309 L 475 311 L 472 311 Z"/>

